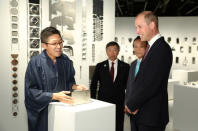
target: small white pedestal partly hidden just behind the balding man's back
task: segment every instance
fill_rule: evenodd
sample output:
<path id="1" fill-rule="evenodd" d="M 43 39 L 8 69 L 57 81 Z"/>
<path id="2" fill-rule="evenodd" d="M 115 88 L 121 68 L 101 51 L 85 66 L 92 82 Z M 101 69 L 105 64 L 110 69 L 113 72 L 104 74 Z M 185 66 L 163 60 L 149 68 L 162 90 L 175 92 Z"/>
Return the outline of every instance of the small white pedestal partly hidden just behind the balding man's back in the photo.
<path id="1" fill-rule="evenodd" d="M 179 84 L 178 80 L 168 79 L 168 100 L 174 99 L 174 85 Z"/>

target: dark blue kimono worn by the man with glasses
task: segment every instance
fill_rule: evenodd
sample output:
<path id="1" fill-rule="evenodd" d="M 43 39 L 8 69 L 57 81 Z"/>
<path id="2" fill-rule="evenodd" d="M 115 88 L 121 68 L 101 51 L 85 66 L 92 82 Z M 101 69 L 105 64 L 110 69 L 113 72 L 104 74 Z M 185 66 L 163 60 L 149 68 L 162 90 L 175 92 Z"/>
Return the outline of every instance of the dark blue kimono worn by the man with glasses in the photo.
<path id="1" fill-rule="evenodd" d="M 75 84 L 72 61 L 64 54 L 54 64 L 44 50 L 33 57 L 25 74 L 25 106 L 29 131 L 48 131 L 48 105 L 52 94 L 71 91 Z"/>

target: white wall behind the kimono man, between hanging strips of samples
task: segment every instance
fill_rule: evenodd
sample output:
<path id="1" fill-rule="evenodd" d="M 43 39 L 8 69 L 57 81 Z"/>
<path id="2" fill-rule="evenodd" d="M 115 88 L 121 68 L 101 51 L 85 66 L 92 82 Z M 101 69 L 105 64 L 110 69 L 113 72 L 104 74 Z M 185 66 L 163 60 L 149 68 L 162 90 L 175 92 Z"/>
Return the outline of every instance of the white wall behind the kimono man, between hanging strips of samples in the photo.
<path id="1" fill-rule="evenodd" d="M 0 40 L 1 40 L 1 51 L 0 51 L 0 131 L 27 131 L 27 115 L 24 106 L 24 76 L 28 61 L 28 20 L 27 20 L 27 1 L 19 1 L 18 5 L 18 33 L 19 33 L 19 44 L 16 49 L 11 47 L 11 19 L 10 19 L 10 1 L 12 0 L 0 0 Z M 42 12 L 42 23 L 41 29 L 50 25 L 49 21 L 49 1 L 41 1 L 41 12 Z M 107 42 L 113 40 L 115 34 L 115 2 L 114 0 L 104 0 L 104 21 L 103 21 L 103 32 L 104 38 L 100 42 L 95 42 L 95 62 L 92 62 L 91 58 L 91 45 L 93 44 L 93 17 L 92 17 L 92 1 L 86 0 L 87 3 L 87 59 L 81 60 L 82 55 L 82 27 L 81 27 L 81 14 L 82 14 L 82 0 L 76 0 L 76 32 L 75 40 L 76 43 L 72 45 L 74 49 L 74 56 L 71 58 L 74 62 L 76 70 L 76 81 L 78 84 L 89 85 L 89 65 L 95 65 L 99 61 L 106 59 L 105 45 Z M 101 51 L 102 50 L 102 51 Z M 18 115 L 12 116 L 12 74 L 11 70 L 11 54 L 17 53 L 19 64 L 18 67 Z M 80 79 L 79 70 L 80 65 L 82 66 L 82 78 Z"/>

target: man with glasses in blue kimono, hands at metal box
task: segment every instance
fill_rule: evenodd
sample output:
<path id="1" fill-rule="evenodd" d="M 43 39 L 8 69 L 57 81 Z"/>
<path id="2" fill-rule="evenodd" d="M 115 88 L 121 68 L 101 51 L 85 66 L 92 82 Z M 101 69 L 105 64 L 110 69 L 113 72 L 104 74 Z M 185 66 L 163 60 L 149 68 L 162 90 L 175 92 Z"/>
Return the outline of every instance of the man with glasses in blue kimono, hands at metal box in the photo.
<path id="1" fill-rule="evenodd" d="M 33 57 L 25 74 L 25 106 L 29 131 L 48 131 L 48 105 L 52 101 L 71 104 L 66 95 L 75 85 L 72 61 L 62 53 L 63 40 L 54 27 L 41 32 L 43 52 Z"/>

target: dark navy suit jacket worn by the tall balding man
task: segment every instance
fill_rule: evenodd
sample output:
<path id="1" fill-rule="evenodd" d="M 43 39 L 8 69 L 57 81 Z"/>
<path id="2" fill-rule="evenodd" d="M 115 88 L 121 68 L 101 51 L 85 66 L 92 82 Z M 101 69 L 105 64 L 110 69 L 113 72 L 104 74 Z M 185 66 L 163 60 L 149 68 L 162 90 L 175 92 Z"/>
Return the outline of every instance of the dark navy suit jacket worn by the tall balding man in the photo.
<path id="1" fill-rule="evenodd" d="M 130 84 L 126 105 L 136 114 L 137 123 L 165 126 L 169 121 L 167 84 L 172 66 L 172 51 L 161 37 L 141 62 L 139 72 Z"/>

